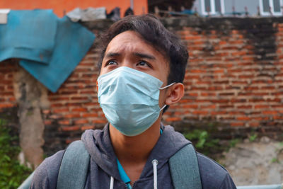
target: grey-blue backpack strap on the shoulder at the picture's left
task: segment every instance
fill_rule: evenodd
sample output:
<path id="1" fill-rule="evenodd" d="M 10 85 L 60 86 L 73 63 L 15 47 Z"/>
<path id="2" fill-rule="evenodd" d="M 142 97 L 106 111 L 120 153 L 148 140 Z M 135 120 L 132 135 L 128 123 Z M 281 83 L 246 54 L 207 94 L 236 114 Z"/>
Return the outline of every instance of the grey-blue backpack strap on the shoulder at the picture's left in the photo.
<path id="1" fill-rule="evenodd" d="M 81 140 L 72 142 L 67 147 L 59 169 L 58 189 L 83 189 L 88 173 L 90 156 Z"/>

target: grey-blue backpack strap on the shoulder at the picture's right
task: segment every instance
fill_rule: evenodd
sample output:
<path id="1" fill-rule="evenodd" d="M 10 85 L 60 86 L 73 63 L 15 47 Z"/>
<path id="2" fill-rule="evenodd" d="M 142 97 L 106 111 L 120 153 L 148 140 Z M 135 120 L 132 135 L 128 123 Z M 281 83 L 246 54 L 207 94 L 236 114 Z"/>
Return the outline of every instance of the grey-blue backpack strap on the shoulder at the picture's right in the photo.
<path id="1" fill-rule="evenodd" d="M 202 189 L 197 153 L 187 144 L 169 159 L 174 188 Z"/>

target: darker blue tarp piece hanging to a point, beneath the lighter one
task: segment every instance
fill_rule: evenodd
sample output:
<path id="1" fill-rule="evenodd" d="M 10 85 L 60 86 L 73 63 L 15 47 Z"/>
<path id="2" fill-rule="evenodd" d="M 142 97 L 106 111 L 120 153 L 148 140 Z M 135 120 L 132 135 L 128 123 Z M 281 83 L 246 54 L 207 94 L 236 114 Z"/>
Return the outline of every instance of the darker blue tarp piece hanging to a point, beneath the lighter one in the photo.
<path id="1" fill-rule="evenodd" d="M 48 65 L 21 60 L 20 65 L 52 92 L 67 79 L 88 52 L 95 35 L 67 16 L 57 21 L 57 33 L 52 57 Z"/>

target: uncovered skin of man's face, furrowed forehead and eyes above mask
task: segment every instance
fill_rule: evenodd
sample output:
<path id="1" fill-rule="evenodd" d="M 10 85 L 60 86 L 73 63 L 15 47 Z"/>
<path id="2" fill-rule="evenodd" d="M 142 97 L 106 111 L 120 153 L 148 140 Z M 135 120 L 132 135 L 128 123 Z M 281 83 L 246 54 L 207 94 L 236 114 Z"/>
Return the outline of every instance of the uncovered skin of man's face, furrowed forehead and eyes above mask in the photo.
<path id="1" fill-rule="evenodd" d="M 167 85 L 169 73 L 168 59 L 153 46 L 141 39 L 134 31 L 125 31 L 115 36 L 105 50 L 100 75 L 118 67 L 129 67 L 156 77 Z M 164 105 L 165 91 L 159 95 L 159 106 Z"/>

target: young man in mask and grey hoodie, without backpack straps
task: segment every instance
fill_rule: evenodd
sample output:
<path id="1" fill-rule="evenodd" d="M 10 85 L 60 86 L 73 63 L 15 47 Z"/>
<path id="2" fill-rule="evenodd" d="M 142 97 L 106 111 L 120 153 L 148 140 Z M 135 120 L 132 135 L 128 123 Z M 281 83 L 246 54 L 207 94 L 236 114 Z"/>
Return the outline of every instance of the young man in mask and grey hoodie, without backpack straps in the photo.
<path id="1" fill-rule="evenodd" d="M 98 101 L 109 123 L 81 137 L 91 156 L 86 188 L 174 188 L 168 159 L 190 142 L 161 117 L 184 95 L 187 48 L 150 15 L 117 21 L 103 44 Z M 43 161 L 31 188 L 56 188 L 63 154 Z M 236 188 L 219 164 L 197 160 L 202 188 Z"/>

